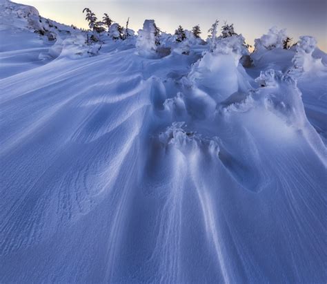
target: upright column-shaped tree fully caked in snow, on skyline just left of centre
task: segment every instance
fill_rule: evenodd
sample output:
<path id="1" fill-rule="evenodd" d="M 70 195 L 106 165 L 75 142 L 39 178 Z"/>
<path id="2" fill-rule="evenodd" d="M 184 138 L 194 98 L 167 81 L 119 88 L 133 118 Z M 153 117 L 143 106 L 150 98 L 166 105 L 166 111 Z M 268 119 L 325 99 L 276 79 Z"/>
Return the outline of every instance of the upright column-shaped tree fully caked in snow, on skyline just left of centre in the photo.
<path id="1" fill-rule="evenodd" d="M 152 57 L 157 55 L 157 46 L 159 46 L 160 30 L 155 24 L 155 20 L 146 20 L 143 23 L 143 29 L 139 30 L 136 47 L 140 55 Z"/>

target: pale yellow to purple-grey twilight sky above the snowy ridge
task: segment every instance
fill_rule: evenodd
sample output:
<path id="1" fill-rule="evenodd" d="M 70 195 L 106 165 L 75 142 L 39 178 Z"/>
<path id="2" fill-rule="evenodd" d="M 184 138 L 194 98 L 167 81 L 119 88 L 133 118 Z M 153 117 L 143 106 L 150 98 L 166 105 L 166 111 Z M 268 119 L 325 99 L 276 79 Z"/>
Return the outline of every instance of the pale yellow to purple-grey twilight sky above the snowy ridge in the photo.
<path id="1" fill-rule="evenodd" d="M 130 17 L 129 28 L 137 31 L 144 19 L 155 19 L 161 30 L 174 32 L 199 24 L 202 37 L 215 19 L 234 23 L 248 44 L 261 37 L 272 26 L 286 28 L 297 41 L 300 35 L 312 35 L 318 46 L 327 51 L 327 0 L 14 0 L 36 7 L 43 17 L 60 23 L 87 28 L 83 8 L 90 8 L 99 19 L 106 12 L 121 26 Z"/>

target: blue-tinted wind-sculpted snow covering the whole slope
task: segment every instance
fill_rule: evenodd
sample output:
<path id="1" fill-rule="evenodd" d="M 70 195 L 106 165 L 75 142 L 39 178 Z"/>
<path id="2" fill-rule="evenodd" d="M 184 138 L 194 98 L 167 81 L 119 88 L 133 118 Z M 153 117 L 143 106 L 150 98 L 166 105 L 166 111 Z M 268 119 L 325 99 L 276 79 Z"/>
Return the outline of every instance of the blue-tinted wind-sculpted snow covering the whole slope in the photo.
<path id="1" fill-rule="evenodd" d="M 326 283 L 312 39 L 270 30 L 244 68 L 241 36 L 150 57 L 0 3 L 1 283 Z"/>

